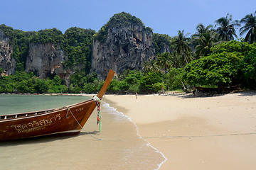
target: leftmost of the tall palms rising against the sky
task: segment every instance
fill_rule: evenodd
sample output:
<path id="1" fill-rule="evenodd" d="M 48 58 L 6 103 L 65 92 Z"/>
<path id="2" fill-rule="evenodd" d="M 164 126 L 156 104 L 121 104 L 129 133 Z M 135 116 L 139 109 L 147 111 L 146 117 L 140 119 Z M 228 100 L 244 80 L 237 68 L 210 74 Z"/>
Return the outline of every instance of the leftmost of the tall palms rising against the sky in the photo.
<path id="1" fill-rule="evenodd" d="M 188 34 L 189 33 L 184 35 L 184 30 L 178 30 L 178 36 L 175 37 L 174 42 L 172 42 L 174 44 L 174 51 L 176 55 L 180 58 L 181 65 L 183 66 L 185 66 L 186 64 L 188 64 L 188 62 L 192 60 L 191 47 L 188 46 L 190 44 L 188 40 L 190 39 L 186 38 Z"/>

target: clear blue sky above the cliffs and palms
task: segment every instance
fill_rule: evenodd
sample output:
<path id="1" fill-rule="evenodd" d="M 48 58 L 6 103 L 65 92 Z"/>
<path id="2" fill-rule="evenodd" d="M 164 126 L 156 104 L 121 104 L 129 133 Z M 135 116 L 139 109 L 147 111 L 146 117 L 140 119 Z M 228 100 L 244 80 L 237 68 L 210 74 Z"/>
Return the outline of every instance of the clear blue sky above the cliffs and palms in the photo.
<path id="1" fill-rule="evenodd" d="M 240 20 L 255 13 L 255 0 L 0 0 L 0 24 L 23 31 L 71 27 L 100 30 L 115 13 L 141 19 L 154 33 L 196 33 L 196 26 L 212 24 L 227 13 Z M 237 32 L 239 35 L 239 32 Z M 240 37 L 240 36 L 238 36 Z"/>

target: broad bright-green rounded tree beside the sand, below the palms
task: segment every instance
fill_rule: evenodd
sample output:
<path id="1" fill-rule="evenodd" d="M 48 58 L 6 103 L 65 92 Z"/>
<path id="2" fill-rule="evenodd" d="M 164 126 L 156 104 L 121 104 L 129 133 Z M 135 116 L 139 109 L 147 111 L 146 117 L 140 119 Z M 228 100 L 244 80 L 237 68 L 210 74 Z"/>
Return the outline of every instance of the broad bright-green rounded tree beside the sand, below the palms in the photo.
<path id="1" fill-rule="evenodd" d="M 237 52 L 222 52 L 194 60 L 185 67 L 185 77 L 192 85 L 229 86 L 238 82 L 243 57 Z"/>

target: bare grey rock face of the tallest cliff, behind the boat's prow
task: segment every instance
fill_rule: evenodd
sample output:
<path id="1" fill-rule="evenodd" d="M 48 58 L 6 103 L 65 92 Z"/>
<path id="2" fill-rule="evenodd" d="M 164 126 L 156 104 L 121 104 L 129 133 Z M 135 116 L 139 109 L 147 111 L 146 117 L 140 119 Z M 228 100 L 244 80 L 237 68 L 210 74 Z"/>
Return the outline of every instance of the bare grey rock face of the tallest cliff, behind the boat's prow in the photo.
<path id="1" fill-rule="evenodd" d="M 152 32 L 144 26 L 109 27 L 107 38 L 92 44 L 92 72 L 105 79 L 109 69 L 117 74 L 124 69 L 141 69 L 142 64 L 154 57 Z"/>

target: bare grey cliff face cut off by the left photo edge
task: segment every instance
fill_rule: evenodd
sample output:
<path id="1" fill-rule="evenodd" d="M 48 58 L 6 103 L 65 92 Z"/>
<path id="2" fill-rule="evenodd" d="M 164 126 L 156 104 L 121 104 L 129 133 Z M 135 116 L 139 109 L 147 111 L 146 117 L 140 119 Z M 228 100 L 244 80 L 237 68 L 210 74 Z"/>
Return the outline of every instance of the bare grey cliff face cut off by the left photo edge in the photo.
<path id="1" fill-rule="evenodd" d="M 16 60 L 11 57 L 12 52 L 9 38 L 5 38 L 3 31 L 0 30 L 0 68 L 3 68 L 6 74 L 14 74 L 16 69 Z"/>

